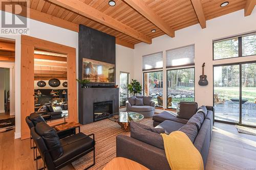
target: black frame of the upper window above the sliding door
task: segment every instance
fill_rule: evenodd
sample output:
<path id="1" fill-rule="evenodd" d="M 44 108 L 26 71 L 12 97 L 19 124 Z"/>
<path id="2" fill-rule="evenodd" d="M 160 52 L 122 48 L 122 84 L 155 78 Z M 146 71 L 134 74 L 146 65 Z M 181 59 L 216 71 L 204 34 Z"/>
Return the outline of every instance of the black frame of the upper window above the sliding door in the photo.
<path id="1" fill-rule="evenodd" d="M 239 58 L 239 57 L 249 57 L 249 56 L 256 56 L 256 54 L 253 55 L 248 55 L 248 56 L 243 56 L 243 46 L 242 46 L 242 37 L 249 36 L 249 35 L 254 35 L 256 32 L 251 32 L 251 33 L 246 33 L 246 34 L 240 34 L 237 36 L 230 36 L 227 38 L 220 38 L 216 40 L 212 40 L 212 60 L 217 61 L 217 60 L 226 60 L 226 59 L 232 59 L 232 58 Z M 225 41 L 225 40 L 230 40 L 233 38 L 238 38 L 238 57 L 230 57 L 230 58 L 221 58 L 221 59 L 215 59 L 214 58 L 214 43 L 215 42 L 220 42 L 220 41 Z"/>

